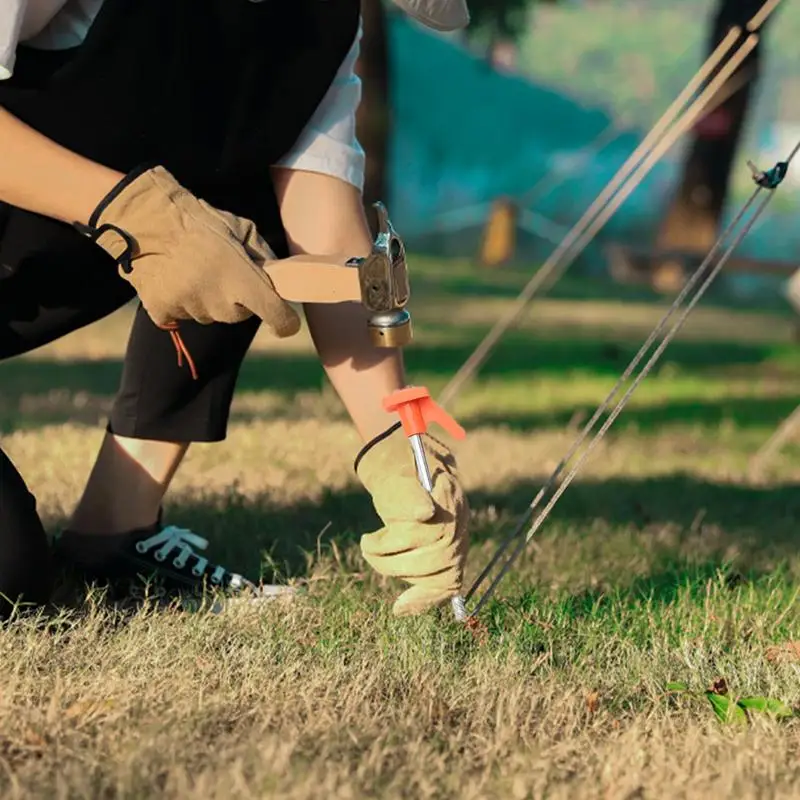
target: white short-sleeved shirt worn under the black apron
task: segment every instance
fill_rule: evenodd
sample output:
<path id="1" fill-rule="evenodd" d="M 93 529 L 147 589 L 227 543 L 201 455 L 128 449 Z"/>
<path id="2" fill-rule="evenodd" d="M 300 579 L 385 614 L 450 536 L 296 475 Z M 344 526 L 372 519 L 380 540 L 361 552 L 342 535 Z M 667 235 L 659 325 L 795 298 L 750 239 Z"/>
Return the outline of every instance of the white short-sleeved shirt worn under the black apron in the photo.
<path id="1" fill-rule="evenodd" d="M 19 42 L 42 50 L 81 44 L 103 0 L 0 0 L 0 80 L 11 77 Z M 364 151 L 356 138 L 362 29 L 292 150 L 275 166 L 320 172 L 364 186 Z"/>

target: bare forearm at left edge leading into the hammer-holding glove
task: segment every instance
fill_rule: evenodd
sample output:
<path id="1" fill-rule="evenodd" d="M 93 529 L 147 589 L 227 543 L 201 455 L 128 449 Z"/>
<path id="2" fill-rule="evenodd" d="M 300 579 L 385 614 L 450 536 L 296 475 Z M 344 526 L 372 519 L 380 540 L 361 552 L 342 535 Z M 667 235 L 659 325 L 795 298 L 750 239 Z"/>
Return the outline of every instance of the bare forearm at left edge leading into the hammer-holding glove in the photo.
<path id="1" fill-rule="evenodd" d="M 0 202 L 62 222 L 88 222 L 124 177 L 48 139 L 0 107 Z"/>

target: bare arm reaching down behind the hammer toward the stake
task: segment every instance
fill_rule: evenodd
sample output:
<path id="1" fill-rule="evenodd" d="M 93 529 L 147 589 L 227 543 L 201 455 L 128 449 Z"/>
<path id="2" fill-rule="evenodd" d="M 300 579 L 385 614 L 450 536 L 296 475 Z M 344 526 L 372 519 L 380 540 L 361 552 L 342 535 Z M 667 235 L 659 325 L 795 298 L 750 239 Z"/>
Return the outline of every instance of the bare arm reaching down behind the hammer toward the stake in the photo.
<path id="1" fill-rule="evenodd" d="M 372 237 L 361 196 L 352 186 L 288 170 L 277 170 L 275 183 L 293 254 L 355 257 L 370 252 Z M 372 344 L 368 314 L 359 303 L 309 303 L 304 309 L 322 366 L 367 441 L 396 421 L 382 403 L 405 385 L 402 355 Z"/>

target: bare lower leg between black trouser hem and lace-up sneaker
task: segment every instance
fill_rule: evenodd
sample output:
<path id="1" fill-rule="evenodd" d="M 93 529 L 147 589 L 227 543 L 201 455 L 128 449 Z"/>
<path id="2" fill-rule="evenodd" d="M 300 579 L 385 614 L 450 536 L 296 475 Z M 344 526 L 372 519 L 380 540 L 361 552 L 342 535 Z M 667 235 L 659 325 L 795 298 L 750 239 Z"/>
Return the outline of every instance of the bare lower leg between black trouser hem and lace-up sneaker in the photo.
<path id="1" fill-rule="evenodd" d="M 188 449 L 106 433 L 69 529 L 113 534 L 153 525 Z"/>

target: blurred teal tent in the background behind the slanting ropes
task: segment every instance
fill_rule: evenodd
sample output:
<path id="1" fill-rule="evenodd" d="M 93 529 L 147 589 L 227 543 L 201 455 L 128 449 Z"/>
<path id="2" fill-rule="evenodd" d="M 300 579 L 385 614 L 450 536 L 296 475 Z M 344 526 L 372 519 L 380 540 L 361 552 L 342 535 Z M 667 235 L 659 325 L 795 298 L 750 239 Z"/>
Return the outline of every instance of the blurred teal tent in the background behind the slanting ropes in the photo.
<path id="1" fill-rule="evenodd" d="M 402 15 L 389 15 L 388 35 L 393 101 L 388 200 L 398 230 L 418 251 L 473 256 L 491 204 L 542 182 L 544 191 L 527 207 L 528 224 L 517 233 L 517 257 L 530 262 L 546 256 L 646 133 L 620 127 L 619 135 L 593 150 L 592 143 L 621 122 L 611 109 L 570 97 L 566 81 L 556 87 L 497 71 L 457 39 L 431 33 Z M 766 161 L 775 151 L 775 137 L 764 131 L 756 138 L 761 146 L 747 156 L 771 166 Z M 653 169 L 600 241 L 652 242 L 678 177 L 680 150 Z M 744 155 L 741 160 L 744 168 Z M 558 182 L 549 192 L 548 175 Z M 733 195 L 724 222 L 740 203 L 741 193 Z M 797 210 L 795 200 L 776 202 L 742 244 L 742 254 L 791 258 L 800 250 Z M 599 246 L 576 268 L 605 270 Z M 741 283 L 753 286 L 750 278 Z"/>

